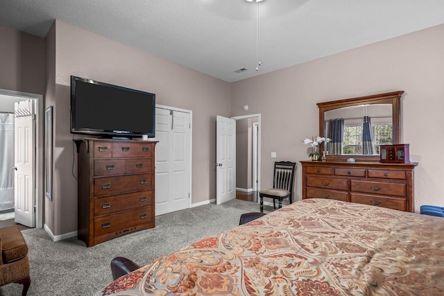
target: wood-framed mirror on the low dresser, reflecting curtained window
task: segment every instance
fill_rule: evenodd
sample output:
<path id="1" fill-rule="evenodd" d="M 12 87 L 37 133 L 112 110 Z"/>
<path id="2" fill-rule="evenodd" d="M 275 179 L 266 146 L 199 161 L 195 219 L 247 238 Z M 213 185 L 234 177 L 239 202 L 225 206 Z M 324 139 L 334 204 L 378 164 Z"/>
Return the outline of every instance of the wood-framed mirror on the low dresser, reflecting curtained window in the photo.
<path id="1" fill-rule="evenodd" d="M 328 161 L 378 162 L 379 145 L 400 143 L 400 98 L 389 92 L 318 103 L 319 135 Z"/>

